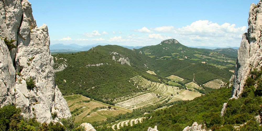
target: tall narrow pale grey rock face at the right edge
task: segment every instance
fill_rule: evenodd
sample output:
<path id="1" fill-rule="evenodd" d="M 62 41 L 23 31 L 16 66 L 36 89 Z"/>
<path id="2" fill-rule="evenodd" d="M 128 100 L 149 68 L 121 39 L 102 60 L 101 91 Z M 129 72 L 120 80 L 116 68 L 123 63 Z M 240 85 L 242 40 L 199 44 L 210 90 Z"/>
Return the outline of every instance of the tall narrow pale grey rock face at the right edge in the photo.
<path id="1" fill-rule="evenodd" d="M 261 28 L 262 1 L 257 5 L 251 4 L 248 18 L 248 32 L 243 34 L 238 49 L 237 63 L 232 88 L 232 98 L 238 98 L 242 93 L 245 80 L 254 68 L 260 69 L 262 61 Z"/>

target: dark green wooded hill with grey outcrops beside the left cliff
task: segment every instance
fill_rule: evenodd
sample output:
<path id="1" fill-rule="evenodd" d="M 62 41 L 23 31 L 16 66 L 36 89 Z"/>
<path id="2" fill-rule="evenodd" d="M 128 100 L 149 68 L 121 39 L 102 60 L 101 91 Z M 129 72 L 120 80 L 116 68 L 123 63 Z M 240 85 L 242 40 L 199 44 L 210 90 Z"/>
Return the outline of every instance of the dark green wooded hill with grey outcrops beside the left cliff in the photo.
<path id="1" fill-rule="evenodd" d="M 117 97 L 141 91 L 129 82 L 131 77 L 143 75 L 159 81 L 145 72 L 149 57 L 121 46 L 97 46 L 89 51 L 53 57 L 56 83 L 63 95 L 82 94 L 112 103 Z"/>

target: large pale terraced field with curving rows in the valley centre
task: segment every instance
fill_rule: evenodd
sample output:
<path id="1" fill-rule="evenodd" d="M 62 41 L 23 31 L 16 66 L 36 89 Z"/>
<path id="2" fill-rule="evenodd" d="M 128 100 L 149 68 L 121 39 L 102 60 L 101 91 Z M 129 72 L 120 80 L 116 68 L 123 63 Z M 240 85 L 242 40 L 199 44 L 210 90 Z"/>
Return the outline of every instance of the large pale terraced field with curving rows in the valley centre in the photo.
<path id="1" fill-rule="evenodd" d="M 150 104 L 162 103 L 170 99 L 171 94 L 176 94 L 179 91 L 178 87 L 152 82 L 140 75 L 130 78 L 130 82 L 137 88 L 143 89 L 143 92 L 117 99 L 115 101 L 116 106 L 136 109 Z"/>

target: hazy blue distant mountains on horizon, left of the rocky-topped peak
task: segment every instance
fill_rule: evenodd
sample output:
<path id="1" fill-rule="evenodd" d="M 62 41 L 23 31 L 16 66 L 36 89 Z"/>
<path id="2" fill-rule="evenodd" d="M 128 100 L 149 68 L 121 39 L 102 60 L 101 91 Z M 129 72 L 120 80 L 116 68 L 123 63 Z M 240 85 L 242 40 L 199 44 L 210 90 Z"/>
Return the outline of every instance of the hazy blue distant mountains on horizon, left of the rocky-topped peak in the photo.
<path id="1" fill-rule="evenodd" d="M 88 51 L 92 47 L 96 47 L 98 45 L 108 45 L 108 44 L 100 43 L 100 44 L 94 44 L 94 45 L 81 46 L 81 45 L 77 45 L 77 44 L 64 45 L 64 44 L 58 43 L 58 44 L 50 45 L 50 52 L 54 53 L 54 52 Z M 125 47 L 125 48 L 132 50 L 132 49 L 139 49 L 139 48 L 142 48 L 144 46 L 122 46 L 122 47 Z"/>

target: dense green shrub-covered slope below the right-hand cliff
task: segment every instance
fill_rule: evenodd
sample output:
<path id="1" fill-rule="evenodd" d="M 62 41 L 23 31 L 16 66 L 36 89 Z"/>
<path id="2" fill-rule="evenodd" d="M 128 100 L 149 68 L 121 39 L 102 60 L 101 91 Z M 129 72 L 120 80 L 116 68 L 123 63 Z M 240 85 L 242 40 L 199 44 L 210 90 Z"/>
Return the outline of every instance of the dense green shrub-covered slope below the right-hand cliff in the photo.
<path id="1" fill-rule="evenodd" d="M 156 110 L 145 116 L 150 117 L 143 123 L 133 127 L 123 127 L 122 130 L 146 130 L 157 124 L 159 130 L 183 130 L 191 126 L 193 122 L 206 124 L 207 129 L 212 130 L 262 130 L 255 116 L 260 115 L 262 107 L 262 71 L 254 69 L 238 99 L 228 100 L 231 96 L 231 89 L 217 89 L 210 91 L 204 96 L 197 97 L 192 101 L 178 101 L 173 106 Z M 257 85 L 255 88 L 254 85 Z M 224 116 L 220 116 L 223 103 L 227 102 Z M 223 125 L 223 126 L 221 126 Z"/>

